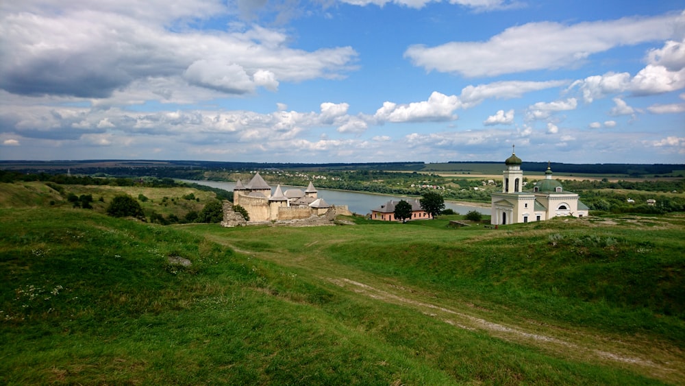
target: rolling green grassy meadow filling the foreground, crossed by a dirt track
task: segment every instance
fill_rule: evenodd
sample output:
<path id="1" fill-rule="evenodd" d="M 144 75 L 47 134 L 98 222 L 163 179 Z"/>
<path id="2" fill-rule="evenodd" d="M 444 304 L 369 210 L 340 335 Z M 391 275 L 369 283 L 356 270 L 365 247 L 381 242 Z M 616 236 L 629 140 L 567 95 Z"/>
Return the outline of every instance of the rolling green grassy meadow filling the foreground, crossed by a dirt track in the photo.
<path id="1" fill-rule="evenodd" d="M 682 214 L 160 226 L 14 185 L 3 384 L 685 383 Z"/>

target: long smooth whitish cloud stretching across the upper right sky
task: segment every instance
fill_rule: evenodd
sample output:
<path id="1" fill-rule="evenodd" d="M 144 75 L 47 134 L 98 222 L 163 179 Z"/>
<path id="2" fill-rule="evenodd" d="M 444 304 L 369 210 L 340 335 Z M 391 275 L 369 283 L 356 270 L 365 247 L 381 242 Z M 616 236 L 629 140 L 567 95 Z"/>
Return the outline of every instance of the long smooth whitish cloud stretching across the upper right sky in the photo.
<path id="1" fill-rule="evenodd" d="M 593 53 L 619 45 L 672 38 L 677 23 L 682 23 L 679 17 L 665 14 L 574 25 L 527 23 L 510 27 L 486 42 L 413 45 L 404 56 L 427 71 L 460 73 L 466 77 L 573 67 Z"/>

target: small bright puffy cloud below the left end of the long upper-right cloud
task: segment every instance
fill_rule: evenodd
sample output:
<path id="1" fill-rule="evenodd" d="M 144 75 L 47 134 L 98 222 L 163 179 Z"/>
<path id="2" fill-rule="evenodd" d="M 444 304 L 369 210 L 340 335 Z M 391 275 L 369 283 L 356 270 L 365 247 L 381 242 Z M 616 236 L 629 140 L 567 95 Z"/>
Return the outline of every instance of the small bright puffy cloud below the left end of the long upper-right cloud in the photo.
<path id="1" fill-rule="evenodd" d="M 398 105 L 390 101 L 376 110 L 374 115 L 378 121 L 387 122 L 417 122 L 417 121 L 453 121 L 457 115 L 453 111 L 462 106 L 455 95 L 447 96 L 434 91 L 427 101 L 412 102 Z"/>

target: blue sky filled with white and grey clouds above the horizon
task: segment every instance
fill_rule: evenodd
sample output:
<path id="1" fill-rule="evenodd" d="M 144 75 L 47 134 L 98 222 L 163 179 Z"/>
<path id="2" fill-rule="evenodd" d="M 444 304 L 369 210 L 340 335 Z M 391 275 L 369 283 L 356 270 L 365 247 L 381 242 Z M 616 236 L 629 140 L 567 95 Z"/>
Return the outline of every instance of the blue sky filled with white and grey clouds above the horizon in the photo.
<path id="1" fill-rule="evenodd" d="M 685 163 L 685 3 L 0 3 L 1 160 Z"/>

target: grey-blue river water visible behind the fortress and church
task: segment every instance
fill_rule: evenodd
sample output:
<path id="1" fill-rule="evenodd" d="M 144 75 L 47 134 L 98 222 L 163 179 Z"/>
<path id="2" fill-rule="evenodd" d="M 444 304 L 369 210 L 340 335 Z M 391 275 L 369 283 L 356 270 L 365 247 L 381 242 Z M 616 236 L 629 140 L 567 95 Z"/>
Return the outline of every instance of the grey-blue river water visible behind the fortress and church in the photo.
<path id="1" fill-rule="evenodd" d="M 183 182 L 201 184 L 206 186 L 212 186 L 212 188 L 219 188 L 225 191 L 233 191 L 236 187 L 235 182 L 223 182 L 223 181 L 208 181 L 208 180 L 181 180 Z M 316 187 L 316 186 L 314 186 Z M 272 188 L 272 192 L 273 192 Z M 283 191 L 287 189 L 306 189 L 306 186 L 281 186 Z M 365 215 L 371 213 L 371 210 L 378 208 L 379 206 L 385 204 L 390 200 L 414 200 L 413 198 L 394 196 L 394 195 L 380 195 L 372 193 L 362 193 L 356 191 L 337 191 L 332 189 L 316 188 L 319 198 L 323 198 L 327 203 L 332 205 L 347 205 L 347 208 L 352 213 L 357 213 L 358 215 Z M 464 204 L 457 204 L 455 202 L 445 202 L 445 208 L 454 210 L 456 213 L 465 215 L 471 210 L 477 210 L 479 213 L 484 215 L 490 215 L 490 207 L 484 208 L 483 206 L 471 206 Z"/>

